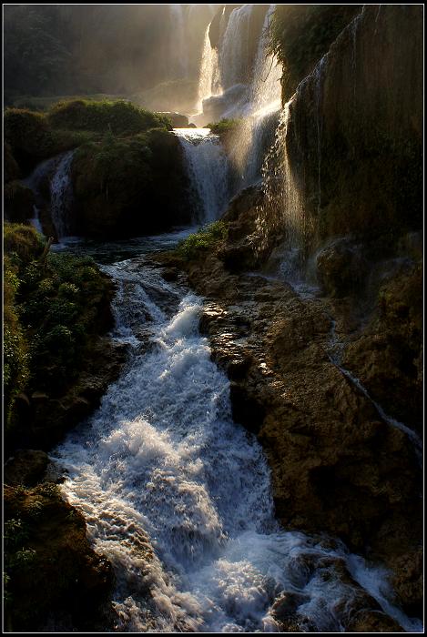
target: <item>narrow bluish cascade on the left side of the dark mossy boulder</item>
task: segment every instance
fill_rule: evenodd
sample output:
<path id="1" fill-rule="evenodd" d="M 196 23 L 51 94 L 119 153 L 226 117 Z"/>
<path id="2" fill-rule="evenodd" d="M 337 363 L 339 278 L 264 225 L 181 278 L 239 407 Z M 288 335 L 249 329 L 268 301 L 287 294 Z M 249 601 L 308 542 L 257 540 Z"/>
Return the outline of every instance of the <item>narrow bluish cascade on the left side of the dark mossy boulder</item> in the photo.
<path id="1" fill-rule="evenodd" d="M 67 152 L 59 161 L 50 182 L 50 209 L 58 239 L 73 234 L 73 185 L 71 164 L 74 151 Z"/>

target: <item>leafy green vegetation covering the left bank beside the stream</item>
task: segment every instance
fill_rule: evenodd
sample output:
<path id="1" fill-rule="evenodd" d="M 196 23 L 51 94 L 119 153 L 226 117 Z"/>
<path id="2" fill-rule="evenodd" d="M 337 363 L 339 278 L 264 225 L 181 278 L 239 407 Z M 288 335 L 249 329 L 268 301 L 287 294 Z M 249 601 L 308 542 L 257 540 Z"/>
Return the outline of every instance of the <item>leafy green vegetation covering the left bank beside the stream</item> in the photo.
<path id="1" fill-rule="evenodd" d="M 31 396 L 60 396 L 110 323 L 112 288 L 92 258 L 46 252 L 33 227 L 5 224 L 5 442 L 30 437 Z M 26 418 L 28 414 L 26 414 Z"/>

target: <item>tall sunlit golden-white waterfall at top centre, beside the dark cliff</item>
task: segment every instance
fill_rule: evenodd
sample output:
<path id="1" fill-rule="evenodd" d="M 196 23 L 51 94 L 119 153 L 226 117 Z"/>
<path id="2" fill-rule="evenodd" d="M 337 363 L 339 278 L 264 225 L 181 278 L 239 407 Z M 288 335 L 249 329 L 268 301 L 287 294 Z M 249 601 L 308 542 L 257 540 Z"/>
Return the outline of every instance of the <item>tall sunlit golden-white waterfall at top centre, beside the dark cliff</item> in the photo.
<path id="1" fill-rule="evenodd" d="M 194 121 L 206 123 L 219 117 L 243 117 L 229 154 L 236 176 L 234 191 L 259 179 L 263 158 L 277 126 L 281 68 L 278 60 L 268 54 L 268 29 L 274 8 L 275 5 L 269 5 L 265 15 L 252 67 L 249 66 L 249 20 L 253 5 L 243 5 L 231 12 L 219 43 L 219 54 L 210 46 L 208 29 L 205 35 L 198 109 L 208 110 L 204 114 L 199 112 Z"/>

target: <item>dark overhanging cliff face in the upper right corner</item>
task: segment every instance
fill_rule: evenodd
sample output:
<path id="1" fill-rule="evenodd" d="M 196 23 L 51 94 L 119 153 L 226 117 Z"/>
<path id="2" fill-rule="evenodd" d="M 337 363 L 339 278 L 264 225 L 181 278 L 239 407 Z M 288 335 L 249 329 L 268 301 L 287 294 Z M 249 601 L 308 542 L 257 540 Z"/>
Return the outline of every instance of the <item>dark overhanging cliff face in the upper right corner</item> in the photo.
<path id="1" fill-rule="evenodd" d="M 422 226 L 420 18 L 366 6 L 290 104 L 290 167 L 318 242 Z"/>

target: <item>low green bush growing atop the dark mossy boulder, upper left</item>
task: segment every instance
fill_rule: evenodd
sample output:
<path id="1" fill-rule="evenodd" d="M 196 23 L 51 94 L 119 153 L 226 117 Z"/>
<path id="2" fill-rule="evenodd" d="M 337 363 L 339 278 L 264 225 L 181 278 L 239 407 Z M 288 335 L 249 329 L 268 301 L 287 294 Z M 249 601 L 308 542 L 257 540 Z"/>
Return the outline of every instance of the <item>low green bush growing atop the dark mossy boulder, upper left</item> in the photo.
<path id="1" fill-rule="evenodd" d="M 136 135 L 150 128 L 168 129 L 165 117 L 157 116 L 139 106 L 117 101 L 76 99 L 52 106 L 47 120 L 53 128 L 86 130 L 97 133 L 110 131 L 114 135 Z"/>

